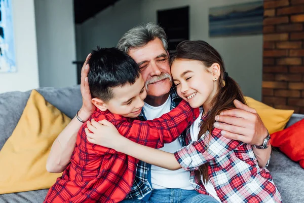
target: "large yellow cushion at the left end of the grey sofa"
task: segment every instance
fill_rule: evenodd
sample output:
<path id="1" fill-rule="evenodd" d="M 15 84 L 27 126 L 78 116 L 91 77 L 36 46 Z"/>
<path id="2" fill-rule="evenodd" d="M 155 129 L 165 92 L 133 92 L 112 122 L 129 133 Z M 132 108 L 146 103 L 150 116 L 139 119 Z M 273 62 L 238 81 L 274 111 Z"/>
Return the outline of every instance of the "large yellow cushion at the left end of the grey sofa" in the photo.
<path id="1" fill-rule="evenodd" d="M 12 136 L 0 151 L 0 194 L 50 188 L 61 174 L 46 170 L 47 157 L 70 118 L 32 90 Z"/>

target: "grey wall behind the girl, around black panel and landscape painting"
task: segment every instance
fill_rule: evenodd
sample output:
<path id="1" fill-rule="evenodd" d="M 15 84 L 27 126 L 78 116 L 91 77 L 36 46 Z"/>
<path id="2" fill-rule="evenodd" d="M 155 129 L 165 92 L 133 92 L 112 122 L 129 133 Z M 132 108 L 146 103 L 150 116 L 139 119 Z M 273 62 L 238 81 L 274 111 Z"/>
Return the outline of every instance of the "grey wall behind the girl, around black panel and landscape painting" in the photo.
<path id="1" fill-rule="evenodd" d="M 256 0 L 143 0 L 143 22 L 157 22 L 157 10 L 189 6 L 190 40 L 204 40 L 212 45 L 224 59 L 226 70 L 241 86 L 247 96 L 261 100 L 262 35 L 209 38 L 209 8 Z"/>

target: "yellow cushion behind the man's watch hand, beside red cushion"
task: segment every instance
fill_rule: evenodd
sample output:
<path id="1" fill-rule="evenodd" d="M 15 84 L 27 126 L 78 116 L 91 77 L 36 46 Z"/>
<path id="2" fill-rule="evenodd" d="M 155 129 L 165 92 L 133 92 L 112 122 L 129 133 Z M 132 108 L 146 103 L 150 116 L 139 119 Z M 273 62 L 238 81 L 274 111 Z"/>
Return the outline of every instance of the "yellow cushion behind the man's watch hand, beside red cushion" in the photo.
<path id="1" fill-rule="evenodd" d="M 284 129 L 294 112 L 293 110 L 272 108 L 248 96 L 245 98 L 248 106 L 257 111 L 270 134 Z"/>

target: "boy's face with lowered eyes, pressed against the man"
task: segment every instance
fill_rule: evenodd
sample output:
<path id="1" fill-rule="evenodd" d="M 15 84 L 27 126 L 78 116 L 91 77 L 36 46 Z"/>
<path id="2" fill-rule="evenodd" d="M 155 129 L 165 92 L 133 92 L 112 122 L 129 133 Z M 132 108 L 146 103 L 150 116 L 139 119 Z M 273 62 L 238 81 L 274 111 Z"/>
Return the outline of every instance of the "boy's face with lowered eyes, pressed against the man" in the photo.
<path id="1" fill-rule="evenodd" d="M 104 104 L 111 113 L 129 118 L 139 116 L 144 105 L 143 99 L 147 96 L 141 74 L 133 85 L 114 87 L 112 92 L 113 98 Z"/>

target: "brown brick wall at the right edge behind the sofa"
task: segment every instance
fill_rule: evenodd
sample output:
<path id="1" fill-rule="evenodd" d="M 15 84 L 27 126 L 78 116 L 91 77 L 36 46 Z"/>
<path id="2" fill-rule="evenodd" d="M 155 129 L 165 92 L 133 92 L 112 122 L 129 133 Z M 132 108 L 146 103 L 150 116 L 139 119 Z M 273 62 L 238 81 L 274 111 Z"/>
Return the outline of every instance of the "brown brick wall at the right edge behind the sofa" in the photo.
<path id="1" fill-rule="evenodd" d="M 264 0 L 263 103 L 304 114 L 304 0 Z"/>

